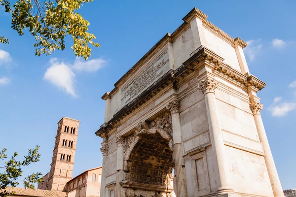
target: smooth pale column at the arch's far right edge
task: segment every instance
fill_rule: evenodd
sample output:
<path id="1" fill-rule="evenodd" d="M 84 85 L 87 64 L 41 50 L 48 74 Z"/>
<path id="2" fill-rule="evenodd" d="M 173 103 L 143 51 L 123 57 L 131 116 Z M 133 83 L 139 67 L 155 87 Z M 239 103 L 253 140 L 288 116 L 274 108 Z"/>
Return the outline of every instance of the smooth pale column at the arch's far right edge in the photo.
<path id="1" fill-rule="evenodd" d="M 255 120 L 256 127 L 257 127 L 259 139 L 260 139 L 262 146 L 263 146 L 263 150 L 264 150 L 264 154 L 265 154 L 265 157 L 264 157 L 265 164 L 266 164 L 269 179 L 271 182 L 273 195 L 275 197 L 284 197 L 284 192 L 282 189 L 280 178 L 279 178 L 278 173 L 276 171 L 276 167 L 275 167 L 275 164 L 273 161 L 273 157 L 271 154 L 268 139 L 266 136 L 266 132 L 265 132 L 265 129 L 263 126 L 263 121 L 262 121 L 261 114 L 260 114 L 260 111 L 263 108 L 263 105 L 254 100 L 253 102 L 251 102 L 250 106 L 251 106 L 251 110 L 254 115 L 254 120 Z"/>

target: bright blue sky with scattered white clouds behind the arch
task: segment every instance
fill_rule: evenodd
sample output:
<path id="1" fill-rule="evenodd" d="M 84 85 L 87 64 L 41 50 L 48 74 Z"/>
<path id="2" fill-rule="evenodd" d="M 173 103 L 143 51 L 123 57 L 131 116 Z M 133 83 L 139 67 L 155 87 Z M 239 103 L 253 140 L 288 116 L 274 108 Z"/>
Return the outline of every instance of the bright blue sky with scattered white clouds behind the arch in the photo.
<path id="1" fill-rule="evenodd" d="M 25 155 L 40 145 L 41 161 L 24 168 L 47 173 L 57 123 L 63 117 L 81 121 L 74 176 L 102 164 L 101 96 L 182 18 L 199 8 L 208 20 L 232 37 L 248 41 L 245 49 L 252 74 L 267 85 L 259 92 L 261 111 L 283 189 L 296 187 L 294 126 L 296 117 L 296 1 L 291 0 L 94 0 L 79 10 L 91 24 L 100 48 L 87 62 L 66 50 L 36 57 L 34 37 L 10 29 L 10 16 L 0 8 L 0 148 Z"/>

